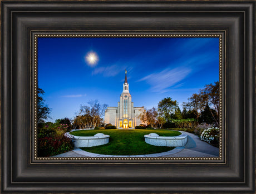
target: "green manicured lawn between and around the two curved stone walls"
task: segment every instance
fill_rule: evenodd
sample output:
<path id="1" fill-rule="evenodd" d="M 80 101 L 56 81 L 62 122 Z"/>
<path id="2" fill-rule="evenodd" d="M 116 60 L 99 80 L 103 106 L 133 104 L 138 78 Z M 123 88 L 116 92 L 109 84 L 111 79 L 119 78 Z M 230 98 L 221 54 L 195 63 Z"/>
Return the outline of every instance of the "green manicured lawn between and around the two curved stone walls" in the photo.
<path id="1" fill-rule="evenodd" d="M 159 147 L 147 144 L 144 135 L 157 133 L 159 136 L 179 136 L 178 131 L 169 130 L 84 130 L 74 131 L 75 136 L 94 136 L 96 133 L 110 135 L 109 143 L 102 146 L 84 147 L 84 151 L 104 155 L 145 155 L 173 150 L 174 147 Z"/>

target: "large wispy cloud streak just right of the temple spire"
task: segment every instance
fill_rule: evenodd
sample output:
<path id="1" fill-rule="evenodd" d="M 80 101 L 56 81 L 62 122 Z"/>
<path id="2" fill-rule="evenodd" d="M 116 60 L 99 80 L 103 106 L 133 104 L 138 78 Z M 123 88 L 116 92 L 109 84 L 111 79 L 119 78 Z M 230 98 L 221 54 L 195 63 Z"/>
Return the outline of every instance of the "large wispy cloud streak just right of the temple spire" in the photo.
<path id="1" fill-rule="evenodd" d="M 139 81 L 146 81 L 151 85 L 153 92 L 164 93 L 168 92 L 168 88 L 182 81 L 191 69 L 188 67 L 176 67 L 173 69 L 166 68 L 158 73 L 151 73 L 148 76 L 141 78 Z"/>

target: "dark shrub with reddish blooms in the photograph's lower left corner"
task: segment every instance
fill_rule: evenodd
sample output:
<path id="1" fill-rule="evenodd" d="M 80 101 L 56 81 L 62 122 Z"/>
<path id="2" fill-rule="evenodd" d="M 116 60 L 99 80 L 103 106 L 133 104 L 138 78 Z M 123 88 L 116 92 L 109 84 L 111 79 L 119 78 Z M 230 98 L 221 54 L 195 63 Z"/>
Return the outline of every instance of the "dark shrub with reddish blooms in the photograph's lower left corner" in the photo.
<path id="1" fill-rule="evenodd" d="M 38 138 L 38 156 L 54 156 L 73 150 L 71 141 L 66 136 Z"/>

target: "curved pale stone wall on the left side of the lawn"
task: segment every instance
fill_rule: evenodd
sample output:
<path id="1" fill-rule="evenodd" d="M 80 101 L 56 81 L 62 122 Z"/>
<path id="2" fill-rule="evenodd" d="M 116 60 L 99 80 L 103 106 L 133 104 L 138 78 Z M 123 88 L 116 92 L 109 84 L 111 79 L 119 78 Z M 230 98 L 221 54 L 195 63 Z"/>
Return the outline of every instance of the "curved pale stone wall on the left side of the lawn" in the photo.
<path id="1" fill-rule="evenodd" d="M 65 133 L 66 137 L 72 138 L 75 147 L 93 147 L 109 143 L 109 135 L 97 133 L 95 136 L 73 136 Z"/>

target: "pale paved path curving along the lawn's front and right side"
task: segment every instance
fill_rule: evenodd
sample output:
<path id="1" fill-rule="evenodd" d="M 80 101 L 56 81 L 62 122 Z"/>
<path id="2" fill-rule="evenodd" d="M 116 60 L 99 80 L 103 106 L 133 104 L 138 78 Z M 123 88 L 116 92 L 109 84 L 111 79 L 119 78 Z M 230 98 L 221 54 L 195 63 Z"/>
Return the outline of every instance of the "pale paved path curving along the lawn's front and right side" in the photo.
<path id="1" fill-rule="evenodd" d="M 201 141 L 200 138 L 192 133 L 184 132 L 188 135 L 188 143 L 185 147 L 176 147 L 173 150 L 162 153 L 153 153 L 150 155 L 131 155 L 131 156 L 114 156 L 100 155 L 75 148 L 72 151 L 61 153 L 52 157 L 218 157 L 219 149 Z"/>

